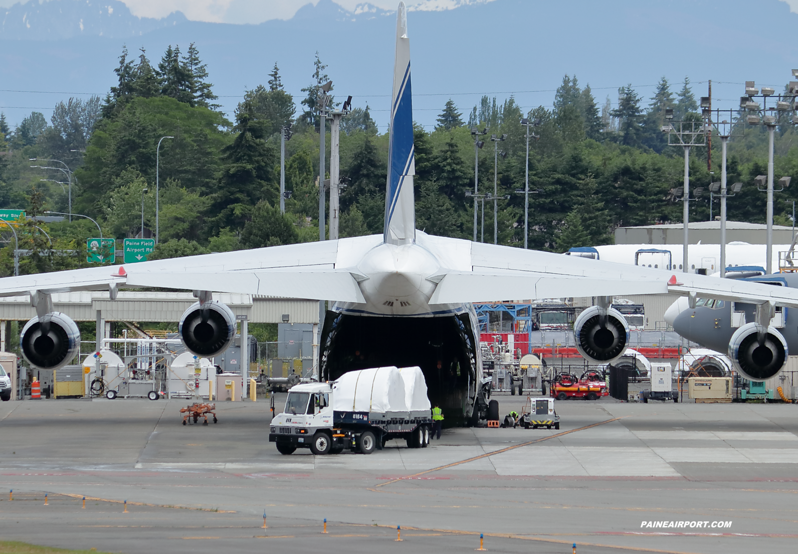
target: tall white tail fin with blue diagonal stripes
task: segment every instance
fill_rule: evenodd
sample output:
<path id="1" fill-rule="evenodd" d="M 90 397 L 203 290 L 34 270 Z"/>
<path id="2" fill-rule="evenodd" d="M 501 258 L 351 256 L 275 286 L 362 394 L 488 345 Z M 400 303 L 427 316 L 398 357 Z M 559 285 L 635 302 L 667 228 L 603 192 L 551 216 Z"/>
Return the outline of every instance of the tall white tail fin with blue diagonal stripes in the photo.
<path id="1" fill-rule="evenodd" d="M 413 100 L 410 92 L 410 40 L 405 2 L 397 9 L 397 49 L 393 64 L 393 96 L 389 136 L 388 182 L 385 187 L 383 240 L 408 244 L 416 240 L 413 175 Z"/>

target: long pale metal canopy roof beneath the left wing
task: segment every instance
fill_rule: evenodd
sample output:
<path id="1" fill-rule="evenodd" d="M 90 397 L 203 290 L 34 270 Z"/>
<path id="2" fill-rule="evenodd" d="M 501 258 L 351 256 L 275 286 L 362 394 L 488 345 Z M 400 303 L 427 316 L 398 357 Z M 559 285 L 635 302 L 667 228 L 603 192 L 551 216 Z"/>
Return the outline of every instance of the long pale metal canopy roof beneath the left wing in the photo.
<path id="1" fill-rule="evenodd" d="M 253 297 L 249 294 L 213 293 L 213 299 L 228 305 L 236 316 L 247 316 L 251 323 L 318 323 L 318 301 L 289 298 Z M 117 300 L 108 293 L 77 292 L 53 294 L 53 307 L 75 321 L 97 320 L 97 310 L 106 321 L 180 321 L 197 299 L 191 293 L 149 293 L 120 291 Z M 0 320 L 30 320 L 36 309 L 30 298 L 0 297 Z"/>

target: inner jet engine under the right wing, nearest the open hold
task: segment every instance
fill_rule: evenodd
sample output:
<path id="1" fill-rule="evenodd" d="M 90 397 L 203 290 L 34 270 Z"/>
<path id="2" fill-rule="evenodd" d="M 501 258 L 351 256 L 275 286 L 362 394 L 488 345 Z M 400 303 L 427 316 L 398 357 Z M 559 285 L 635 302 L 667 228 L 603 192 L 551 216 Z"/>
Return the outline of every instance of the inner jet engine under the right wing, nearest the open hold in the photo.
<path id="1" fill-rule="evenodd" d="M 603 321 L 602 321 L 603 319 Z M 606 308 L 602 318 L 599 306 L 587 308 L 574 322 L 574 339 L 579 354 L 598 363 L 617 360 L 629 342 L 629 324 L 621 312 Z"/>

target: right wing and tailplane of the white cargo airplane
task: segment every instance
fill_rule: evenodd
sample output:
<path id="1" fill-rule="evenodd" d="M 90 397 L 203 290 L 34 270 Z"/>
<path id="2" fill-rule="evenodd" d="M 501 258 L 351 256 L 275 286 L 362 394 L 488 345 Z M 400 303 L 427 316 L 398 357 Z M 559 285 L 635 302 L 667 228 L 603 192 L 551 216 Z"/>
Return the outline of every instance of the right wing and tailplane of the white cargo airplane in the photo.
<path id="1" fill-rule="evenodd" d="M 435 241 L 435 246 L 442 246 Z M 430 304 L 627 294 L 689 295 L 798 308 L 798 289 L 471 243 L 471 270 L 440 272 Z M 675 277 L 675 279 L 674 279 Z"/>

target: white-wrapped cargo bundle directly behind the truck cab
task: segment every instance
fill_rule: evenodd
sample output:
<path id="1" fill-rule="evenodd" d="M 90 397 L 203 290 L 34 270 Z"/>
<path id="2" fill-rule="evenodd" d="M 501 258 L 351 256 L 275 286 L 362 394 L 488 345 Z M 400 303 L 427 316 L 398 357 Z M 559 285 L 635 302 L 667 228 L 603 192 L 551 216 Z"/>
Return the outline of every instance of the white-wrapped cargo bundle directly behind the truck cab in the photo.
<path id="1" fill-rule="evenodd" d="M 349 371 L 335 381 L 333 391 L 333 411 L 408 411 L 405 380 L 396 366 Z"/>

